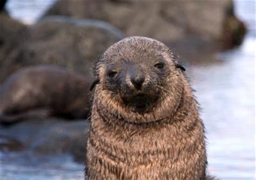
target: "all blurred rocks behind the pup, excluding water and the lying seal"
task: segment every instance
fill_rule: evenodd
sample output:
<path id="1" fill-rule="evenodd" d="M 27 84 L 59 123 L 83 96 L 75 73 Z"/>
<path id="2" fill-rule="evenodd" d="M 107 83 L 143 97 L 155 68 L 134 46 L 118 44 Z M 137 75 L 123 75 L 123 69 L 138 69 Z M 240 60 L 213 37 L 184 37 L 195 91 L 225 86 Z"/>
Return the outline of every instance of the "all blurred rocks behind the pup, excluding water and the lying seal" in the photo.
<path id="1" fill-rule="evenodd" d="M 184 62 L 196 63 L 208 61 L 216 51 L 239 45 L 246 32 L 229 0 L 63 0 L 35 25 L 14 20 L 3 9 L 0 22 L 0 89 L 12 73 L 30 65 L 54 64 L 93 78 L 97 57 L 129 35 L 163 41 L 174 47 Z M 0 150 L 70 153 L 82 162 L 89 126 L 85 119 L 28 118 L 0 127 Z"/>

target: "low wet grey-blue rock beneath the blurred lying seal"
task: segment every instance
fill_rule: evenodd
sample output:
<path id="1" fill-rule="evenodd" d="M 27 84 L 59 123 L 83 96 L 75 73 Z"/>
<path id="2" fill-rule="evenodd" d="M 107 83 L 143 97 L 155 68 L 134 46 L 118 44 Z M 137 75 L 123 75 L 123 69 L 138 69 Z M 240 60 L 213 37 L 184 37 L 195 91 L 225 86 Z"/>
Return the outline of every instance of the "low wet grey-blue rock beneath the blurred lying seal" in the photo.
<path id="1" fill-rule="evenodd" d="M 0 126 L 0 137 L 20 142 L 25 150 L 39 154 L 69 153 L 82 162 L 89 126 L 87 120 L 30 119 L 10 127 Z"/>

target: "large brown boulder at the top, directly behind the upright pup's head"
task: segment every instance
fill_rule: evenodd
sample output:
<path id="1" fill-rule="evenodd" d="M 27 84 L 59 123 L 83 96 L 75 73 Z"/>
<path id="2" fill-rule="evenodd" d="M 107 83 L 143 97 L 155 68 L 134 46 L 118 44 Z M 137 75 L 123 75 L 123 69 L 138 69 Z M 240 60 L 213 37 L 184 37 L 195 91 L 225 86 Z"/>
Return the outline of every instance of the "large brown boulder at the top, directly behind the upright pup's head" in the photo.
<path id="1" fill-rule="evenodd" d="M 46 15 L 105 20 L 127 35 L 151 37 L 176 48 L 187 59 L 197 59 L 200 55 L 202 59 L 205 57 L 203 53 L 208 56 L 226 41 L 224 26 L 231 17 L 232 7 L 232 0 L 62 0 L 56 2 Z M 240 21 L 236 22 L 241 26 Z M 231 38 L 225 44 L 244 36 L 243 33 L 237 35 L 237 30 L 230 30 Z"/>

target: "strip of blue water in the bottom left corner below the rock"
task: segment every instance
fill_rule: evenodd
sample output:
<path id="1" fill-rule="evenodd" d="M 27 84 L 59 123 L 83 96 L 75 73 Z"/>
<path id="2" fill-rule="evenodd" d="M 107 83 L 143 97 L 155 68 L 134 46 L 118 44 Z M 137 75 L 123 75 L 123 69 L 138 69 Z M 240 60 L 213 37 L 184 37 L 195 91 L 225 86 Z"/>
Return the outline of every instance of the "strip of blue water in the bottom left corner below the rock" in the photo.
<path id="1" fill-rule="evenodd" d="M 69 155 L 0 153 L 1 180 L 83 179 L 84 166 Z"/>

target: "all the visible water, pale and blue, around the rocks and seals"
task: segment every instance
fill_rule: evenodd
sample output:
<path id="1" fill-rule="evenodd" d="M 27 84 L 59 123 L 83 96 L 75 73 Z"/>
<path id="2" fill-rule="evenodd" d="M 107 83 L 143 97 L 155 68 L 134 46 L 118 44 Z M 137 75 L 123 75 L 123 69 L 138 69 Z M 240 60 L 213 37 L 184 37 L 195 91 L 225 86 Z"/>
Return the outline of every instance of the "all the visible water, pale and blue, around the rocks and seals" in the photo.
<path id="1" fill-rule="evenodd" d="M 12 16 L 31 24 L 51 3 L 9 0 L 8 10 Z M 221 179 L 254 179 L 255 2 L 235 1 L 235 12 L 250 27 L 243 44 L 218 54 L 220 61 L 187 69 L 203 107 L 208 171 Z M 83 164 L 73 162 L 68 155 L 0 153 L 0 160 L 3 180 L 83 179 Z"/>

